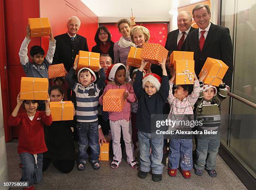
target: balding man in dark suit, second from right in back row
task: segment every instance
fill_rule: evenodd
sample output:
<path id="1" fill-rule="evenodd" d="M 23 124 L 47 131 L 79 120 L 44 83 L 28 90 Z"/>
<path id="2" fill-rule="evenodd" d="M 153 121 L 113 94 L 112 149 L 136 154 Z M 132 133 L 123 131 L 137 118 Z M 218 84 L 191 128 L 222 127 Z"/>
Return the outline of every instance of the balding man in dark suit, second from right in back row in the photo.
<path id="1" fill-rule="evenodd" d="M 189 32 L 195 30 L 191 27 L 192 17 L 189 12 L 182 11 L 177 16 L 178 29 L 168 33 L 165 48 L 168 51 L 184 51 L 186 37 Z"/>

